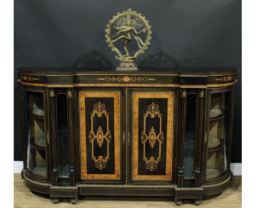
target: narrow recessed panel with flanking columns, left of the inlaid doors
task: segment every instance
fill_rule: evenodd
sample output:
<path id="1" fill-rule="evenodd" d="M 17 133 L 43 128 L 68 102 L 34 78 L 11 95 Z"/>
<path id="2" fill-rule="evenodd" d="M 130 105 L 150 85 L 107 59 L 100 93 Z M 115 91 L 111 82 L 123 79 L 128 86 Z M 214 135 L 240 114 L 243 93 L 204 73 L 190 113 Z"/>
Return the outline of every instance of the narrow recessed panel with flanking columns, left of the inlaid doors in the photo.
<path id="1" fill-rule="evenodd" d="M 53 186 L 74 186 L 73 105 L 66 88 L 49 88 L 49 119 L 51 126 L 51 176 Z"/>

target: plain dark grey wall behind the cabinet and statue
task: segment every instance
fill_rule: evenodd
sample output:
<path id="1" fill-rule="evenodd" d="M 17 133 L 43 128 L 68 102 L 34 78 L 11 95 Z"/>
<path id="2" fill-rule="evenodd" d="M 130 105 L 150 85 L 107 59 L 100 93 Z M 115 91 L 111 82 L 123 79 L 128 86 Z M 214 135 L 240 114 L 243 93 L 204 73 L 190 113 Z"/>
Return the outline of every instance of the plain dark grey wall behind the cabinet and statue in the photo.
<path id="1" fill-rule="evenodd" d="M 14 67 L 117 65 L 104 30 L 128 8 L 153 30 L 140 64 L 240 68 L 231 162 L 241 162 L 241 0 L 14 0 Z M 14 70 L 14 160 L 22 160 L 16 80 Z"/>

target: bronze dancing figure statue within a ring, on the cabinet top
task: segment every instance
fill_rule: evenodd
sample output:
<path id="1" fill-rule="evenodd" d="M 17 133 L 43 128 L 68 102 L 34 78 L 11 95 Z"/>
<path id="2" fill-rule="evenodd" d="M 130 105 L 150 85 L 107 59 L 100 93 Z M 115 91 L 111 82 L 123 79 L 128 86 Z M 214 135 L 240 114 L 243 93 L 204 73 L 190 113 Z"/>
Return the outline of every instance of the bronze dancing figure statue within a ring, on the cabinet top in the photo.
<path id="1" fill-rule="evenodd" d="M 123 13 L 118 13 L 117 16 L 113 16 L 112 20 L 109 20 L 106 33 L 108 46 L 118 54 L 115 58 L 121 61 L 116 70 L 138 70 L 134 60 L 137 59 L 138 54 L 143 53 L 148 48 L 152 33 L 146 17 L 137 13 L 137 11 L 128 9 L 123 11 Z M 141 35 L 142 33 L 145 35 Z M 114 42 L 121 39 L 124 39 L 123 48 L 125 54 L 122 54 L 120 48 L 114 45 Z M 138 50 L 133 54 L 127 49 L 127 45 L 132 39 L 136 40 L 138 45 Z"/>

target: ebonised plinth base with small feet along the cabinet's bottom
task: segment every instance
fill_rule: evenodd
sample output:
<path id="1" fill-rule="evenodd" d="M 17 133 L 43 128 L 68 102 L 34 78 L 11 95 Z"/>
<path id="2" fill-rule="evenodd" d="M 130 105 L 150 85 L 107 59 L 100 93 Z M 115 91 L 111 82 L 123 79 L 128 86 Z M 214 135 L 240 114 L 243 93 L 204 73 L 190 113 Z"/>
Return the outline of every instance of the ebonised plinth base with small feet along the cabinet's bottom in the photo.
<path id="1" fill-rule="evenodd" d="M 77 203 L 78 196 L 98 196 L 99 194 L 106 194 L 112 197 L 120 197 L 120 195 L 127 197 L 127 195 L 132 197 L 176 197 L 175 203 L 177 205 L 182 205 L 184 199 L 194 199 L 195 205 L 200 205 L 203 198 L 212 197 L 213 195 L 219 195 L 224 192 L 230 184 L 231 176 L 225 180 L 219 181 L 218 183 L 213 183 L 211 185 L 202 185 L 201 187 L 177 187 L 173 185 L 144 185 L 147 188 L 142 189 L 141 185 L 107 185 L 102 184 L 102 188 L 93 183 L 88 185 L 83 182 L 78 182 L 77 186 L 53 186 L 49 182 L 38 182 L 33 179 L 33 175 L 27 170 L 22 170 L 24 177 L 24 184 L 32 192 L 49 195 L 54 204 L 59 203 L 61 198 L 69 198 L 69 202 L 72 204 Z M 32 178 L 27 176 L 30 174 Z M 230 172 L 231 174 L 231 172 Z M 106 186 L 106 188 L 104 187 Z M 107 191 L 106 191 L 107 190 Z M 179 197 L 179 198 L 177 198 Z M 184 199 L 183 199 L 184 198 Z"/>

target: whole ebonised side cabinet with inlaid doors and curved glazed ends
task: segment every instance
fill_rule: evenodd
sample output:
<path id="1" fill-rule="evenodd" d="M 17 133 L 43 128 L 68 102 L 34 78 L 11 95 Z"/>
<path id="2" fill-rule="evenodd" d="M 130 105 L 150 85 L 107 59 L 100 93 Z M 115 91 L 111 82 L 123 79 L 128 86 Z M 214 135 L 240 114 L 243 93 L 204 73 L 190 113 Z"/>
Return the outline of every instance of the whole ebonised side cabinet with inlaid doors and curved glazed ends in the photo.
<path id="1" fill-rule="evenodd" d="M 94 70 L 18 70 L 29 189 L 199 205 L 228 188 L 236 70 Z"/>

